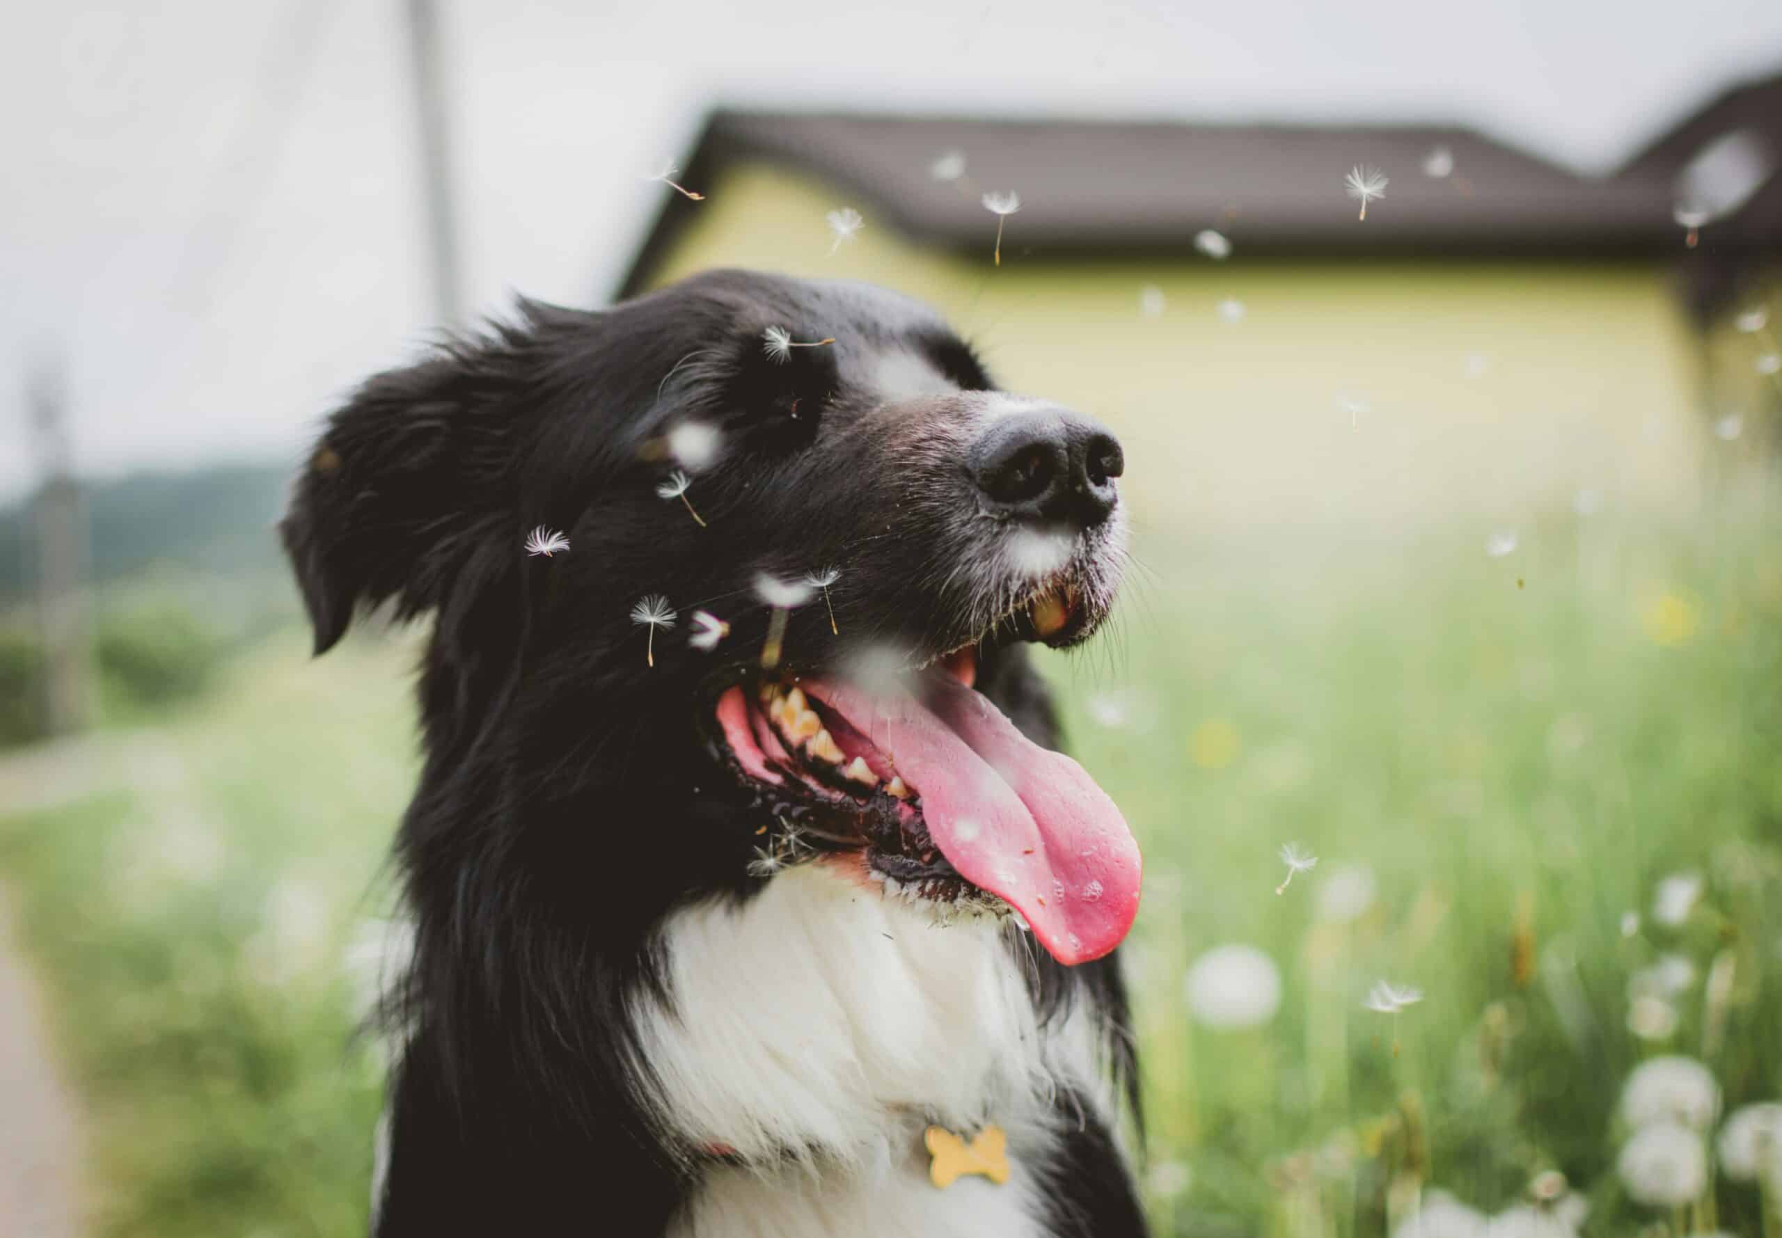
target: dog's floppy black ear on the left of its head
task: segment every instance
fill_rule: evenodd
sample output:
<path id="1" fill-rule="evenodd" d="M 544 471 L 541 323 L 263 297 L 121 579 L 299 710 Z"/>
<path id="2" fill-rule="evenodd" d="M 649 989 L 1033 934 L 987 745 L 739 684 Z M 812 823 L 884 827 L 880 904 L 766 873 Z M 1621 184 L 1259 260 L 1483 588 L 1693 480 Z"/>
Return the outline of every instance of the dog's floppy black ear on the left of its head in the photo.
<path id="1" fill-rule="evenodd" d="M 513 392 L 486 360 L 467 346 L 378 374 L 328 419 L 280 522 L 317 654 L 360 606 L 440 606 L 470 550 L 511 525 Z"/>

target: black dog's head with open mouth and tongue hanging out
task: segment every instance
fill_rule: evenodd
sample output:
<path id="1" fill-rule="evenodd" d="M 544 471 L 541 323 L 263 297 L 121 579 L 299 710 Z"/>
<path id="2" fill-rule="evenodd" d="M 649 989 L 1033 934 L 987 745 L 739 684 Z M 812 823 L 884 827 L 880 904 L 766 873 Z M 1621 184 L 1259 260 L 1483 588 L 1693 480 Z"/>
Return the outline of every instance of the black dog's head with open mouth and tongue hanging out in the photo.
<path id="1" fill-rule="evenodd" d="M 317 650 L 358 606 L 438 613 L 429 770 L 478 771 L 485 802 L 586 807 L 599 784 L 722 821 L 695 843 L 745 889 L 814 859 L 1012 905 L 1082 962 L 1130 926 L 1139 855 L 1023 734 L 1050 741 L 1021 645 L 1107 616 L 1121 470 L 1103 428 L 998 390 L 930 310 L 732 271 L 604 314 L 527 305 L 371 379 L 283 536 Z M 567 549 L 527 554 L 540 525 Z"/>

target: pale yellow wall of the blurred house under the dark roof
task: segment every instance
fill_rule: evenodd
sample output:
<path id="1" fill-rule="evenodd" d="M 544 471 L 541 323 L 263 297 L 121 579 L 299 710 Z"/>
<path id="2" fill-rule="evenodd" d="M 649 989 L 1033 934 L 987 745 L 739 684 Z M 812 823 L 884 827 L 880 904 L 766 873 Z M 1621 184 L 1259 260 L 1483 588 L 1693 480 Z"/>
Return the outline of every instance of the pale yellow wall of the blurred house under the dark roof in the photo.
<path id="1" fill-rule="evenodd" d="M 921 297 L 1001 385 L 1119 433 L 1144 522 L 1515 524 L 1581 486 L 1639 504 L 1696 488 L 1700 344 L 1650 264 L 1246 262 L 1242 248 L 1215 264 L 1187 244 L 1059 262 L 1023 255 L 1016 214 L 998 269 L 775 167 L 707 191 L 656 283 L 741 265 Z M 843 205 L 866 226 L 830 255 L 823 216 Z M 1140 310 L 1146 285 L 1162 314 Z M 1221 319 L 1226 297 L 1242 321 Z"/>

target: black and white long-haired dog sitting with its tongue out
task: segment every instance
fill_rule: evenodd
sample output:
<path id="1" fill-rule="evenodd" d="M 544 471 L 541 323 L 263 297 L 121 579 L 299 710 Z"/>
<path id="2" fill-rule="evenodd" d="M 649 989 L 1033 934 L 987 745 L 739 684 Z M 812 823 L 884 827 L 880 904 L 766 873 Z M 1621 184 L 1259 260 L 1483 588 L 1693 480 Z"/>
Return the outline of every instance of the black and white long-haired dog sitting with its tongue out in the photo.
<path id="1" fill-rule="evenodd" d="M 1025 648 L 1105 618 L 1121 468 L 930 310 L 738 271 L 331 417 L 315 648 L 435 616 L 378 1234 L 1142 1233 L 1139 853 Z"/>

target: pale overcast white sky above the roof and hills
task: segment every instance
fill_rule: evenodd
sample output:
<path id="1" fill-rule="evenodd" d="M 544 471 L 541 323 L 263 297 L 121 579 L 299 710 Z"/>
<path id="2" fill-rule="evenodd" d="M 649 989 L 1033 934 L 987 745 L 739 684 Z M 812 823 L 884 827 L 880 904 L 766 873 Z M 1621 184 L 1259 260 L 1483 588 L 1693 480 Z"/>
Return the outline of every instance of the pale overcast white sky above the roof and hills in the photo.
<path id="1" fill-rule="evenodd" d="M 442 4 L 479 310 L 601 296 L 709 102 L 1461 121 L 1604 169 L 1782 66 L 1775 0 Z M 428 328 L 401 2 L 153 7 L 0 30 L 0 499 L 46 349 L 118 472 L 294 460 Z"/>

